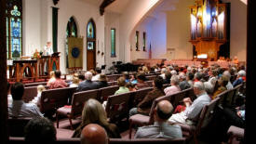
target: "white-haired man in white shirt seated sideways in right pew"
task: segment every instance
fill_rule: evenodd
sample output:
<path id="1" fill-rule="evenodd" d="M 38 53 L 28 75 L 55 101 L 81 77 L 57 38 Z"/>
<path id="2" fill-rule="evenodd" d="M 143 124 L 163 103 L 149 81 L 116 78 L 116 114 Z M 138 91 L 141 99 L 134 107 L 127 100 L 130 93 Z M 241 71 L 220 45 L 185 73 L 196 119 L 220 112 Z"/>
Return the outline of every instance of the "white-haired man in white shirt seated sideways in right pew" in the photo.
<path id="1" fill-rule="evenodd" d="M 168 121 L 171 123 L 182 123 L 182 124 L 194 124 L 199 113 L 203 107 L 210 102 L 209 95 L 205 91 L 204 84 L 202 82 L 195 82 L 194 92 L 196 99 L 192 102 L 190 98 L 184 98 L 183 102 L 186 105 L 186 110 L 181 113 L 173 114 Z"/>

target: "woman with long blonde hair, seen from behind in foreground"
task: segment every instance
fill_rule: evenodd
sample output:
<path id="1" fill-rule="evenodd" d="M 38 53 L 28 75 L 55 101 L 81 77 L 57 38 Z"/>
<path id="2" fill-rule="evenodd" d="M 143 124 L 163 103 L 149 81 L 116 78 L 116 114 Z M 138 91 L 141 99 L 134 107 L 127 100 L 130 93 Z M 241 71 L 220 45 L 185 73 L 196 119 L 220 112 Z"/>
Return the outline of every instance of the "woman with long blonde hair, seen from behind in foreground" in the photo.
<path id="1" fill-rule="evenodd" d="M 85 103 L 84 110 L 82 111 L 82 123 L 74 131 L 73 137 L 80 137 L 83 128 L 88 124 L 101 125 L 107 132 L 108 137 L 121 137 L 117 126 L 108 123 L 106 111 L 101 103 L 93 98 L 88 99 Z"/>

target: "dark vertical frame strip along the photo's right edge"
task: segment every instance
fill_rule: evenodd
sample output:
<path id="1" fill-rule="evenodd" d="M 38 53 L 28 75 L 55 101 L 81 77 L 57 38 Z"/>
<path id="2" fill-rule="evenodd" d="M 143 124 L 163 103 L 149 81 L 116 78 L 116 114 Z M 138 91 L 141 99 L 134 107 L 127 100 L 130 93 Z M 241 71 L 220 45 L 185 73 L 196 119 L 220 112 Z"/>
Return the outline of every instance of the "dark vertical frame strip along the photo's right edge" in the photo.
<path id="1" fill-rule="evenodd" d="M 256 47 L 256 1 L 248 0 L 248 20 L 247 20 L 247 85 L 246 85 L 246 128 L 245 128 L 245 142 L 255 141 L 253 132 L 255 131 L 255 53 L 253 49 Z M 254 73 L 254 74 L 253 74 Z M 254 88 L 254 89 L 253 89 Z"/>

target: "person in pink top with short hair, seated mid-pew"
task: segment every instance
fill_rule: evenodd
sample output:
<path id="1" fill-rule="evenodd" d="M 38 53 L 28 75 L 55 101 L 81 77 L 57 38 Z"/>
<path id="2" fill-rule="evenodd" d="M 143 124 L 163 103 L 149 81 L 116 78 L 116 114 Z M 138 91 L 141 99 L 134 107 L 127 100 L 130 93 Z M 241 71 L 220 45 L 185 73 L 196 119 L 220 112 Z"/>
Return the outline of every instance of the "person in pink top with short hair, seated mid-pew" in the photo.
<path id="1" fill-rule="evenodd" d="M 167 88 L 165 88 L 165 93 L 166 96 L 178 93 L 181 91 L 181 88 L 179 87 L 179 76 L 178 75 L 172 75 L 170 78 L 170 84 L 171 86 L 168 86 Z"/>

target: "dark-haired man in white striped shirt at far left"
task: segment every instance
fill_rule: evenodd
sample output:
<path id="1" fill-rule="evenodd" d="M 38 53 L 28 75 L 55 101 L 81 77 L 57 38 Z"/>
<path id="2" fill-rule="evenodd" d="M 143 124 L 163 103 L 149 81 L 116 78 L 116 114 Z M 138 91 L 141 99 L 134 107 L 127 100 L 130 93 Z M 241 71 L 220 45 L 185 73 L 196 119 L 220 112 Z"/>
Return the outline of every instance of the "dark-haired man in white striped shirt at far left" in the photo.
<path id="1" fill-rule="evenodd" d="M 25 103 L 21 98 L 24 94 L 24 85 L 16 82 L 11 86 L 12 104 L 8 105 L 10 117 L 43 117 L 37 106 L 32 103 Z"/>

